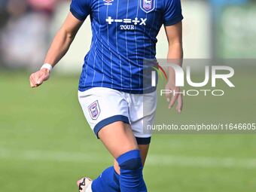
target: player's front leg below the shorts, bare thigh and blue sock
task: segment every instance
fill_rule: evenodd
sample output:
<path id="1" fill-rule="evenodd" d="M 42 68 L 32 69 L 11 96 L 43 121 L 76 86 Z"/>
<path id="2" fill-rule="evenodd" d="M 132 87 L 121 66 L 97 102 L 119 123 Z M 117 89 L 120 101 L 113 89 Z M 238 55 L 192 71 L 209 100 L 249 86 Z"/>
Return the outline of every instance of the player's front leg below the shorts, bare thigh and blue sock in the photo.
<path id="1" fill-rule="evenodd" d="M 142 175 L 142 157 L 130 125 L 111 123 L 99 131 L 99 138 L 120 167 L 120 190 L 147 191 Z M 93 181 L 92 188 L 97 191 L 94 184 Z"/>

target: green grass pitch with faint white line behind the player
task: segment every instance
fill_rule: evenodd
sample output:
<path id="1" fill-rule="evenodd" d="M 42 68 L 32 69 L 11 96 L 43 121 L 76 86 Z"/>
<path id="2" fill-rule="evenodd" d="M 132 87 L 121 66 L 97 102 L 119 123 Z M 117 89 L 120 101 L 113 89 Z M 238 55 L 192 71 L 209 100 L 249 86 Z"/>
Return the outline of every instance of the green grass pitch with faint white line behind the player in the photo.
<path id="1" fill-rule="evenodd" d="M 243 81 L 248 78 L 245 75 Z M 78 76 L 53 75 L 36 90 L 29 88 L 28 80 L 26 72 L 0 73 L 0 191 L 78 191 L 78 178 L 96 178 L 112 163 L 78 104 Z M 239 87 L 241 81 L 237 82 Z M 255 98 L 256 90 L 251 94 L 242 100 L 234 94 L 235 104 L 222 101 L 230 108 L 226 116 L 218 115 L 209 102 L 193 113 L 190 108 L 206 99 L 201 97 L 185 100 L 184 114 L 171 111 L 170 118 L 207 119 L 205 110 L 212 108 L 215 121 L 230 120 L 244 107 L 242 102 Z M 251 102 L 248 115 L 237 114 L 236 120 L 256 117 L 254 107 Z M 256 191 L 255 146 L 253 134 L 154 135 L 144 170 L 148 191 Z"/>

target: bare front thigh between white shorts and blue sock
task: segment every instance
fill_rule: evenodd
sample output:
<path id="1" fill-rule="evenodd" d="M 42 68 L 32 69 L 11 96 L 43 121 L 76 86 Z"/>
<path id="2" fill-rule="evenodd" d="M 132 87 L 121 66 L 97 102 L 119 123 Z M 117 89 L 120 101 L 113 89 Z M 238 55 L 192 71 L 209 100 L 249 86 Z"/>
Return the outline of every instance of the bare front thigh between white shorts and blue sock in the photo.
<path id="1" fill-rule="evenodd" d="M 138 149 L 130 124 L 117 121 L 99 131 L 99 139 L 116 159 L 127 151 Z"/>

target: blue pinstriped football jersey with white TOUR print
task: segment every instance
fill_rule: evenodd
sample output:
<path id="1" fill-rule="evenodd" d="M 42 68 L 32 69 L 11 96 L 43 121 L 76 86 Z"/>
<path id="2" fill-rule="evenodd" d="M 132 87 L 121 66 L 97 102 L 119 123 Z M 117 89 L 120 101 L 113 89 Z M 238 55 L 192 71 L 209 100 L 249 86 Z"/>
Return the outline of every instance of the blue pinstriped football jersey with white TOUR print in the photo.
<path id="1" fill-rule="evenodd" d="M 160 27 L 183 19 L 180 0 L 72 0 L 70 11 L 82 21 L 90 15 L 93 32 L 80 91 L 93 87 L 153 91 L 143 86 L 143 61 L 155 59 Z"/>

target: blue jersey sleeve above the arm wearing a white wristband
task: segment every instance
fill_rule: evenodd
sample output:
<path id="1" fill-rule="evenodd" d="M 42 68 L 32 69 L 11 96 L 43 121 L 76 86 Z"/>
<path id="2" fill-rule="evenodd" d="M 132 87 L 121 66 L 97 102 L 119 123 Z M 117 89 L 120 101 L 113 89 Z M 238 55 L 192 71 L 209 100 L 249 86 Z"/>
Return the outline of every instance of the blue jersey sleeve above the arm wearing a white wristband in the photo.
<path id="1" fill-rule="evenodd" d="M 91 0 L 72 0 L 70 12 L 78 20 L 84 21 L 91 12 Z"/>

